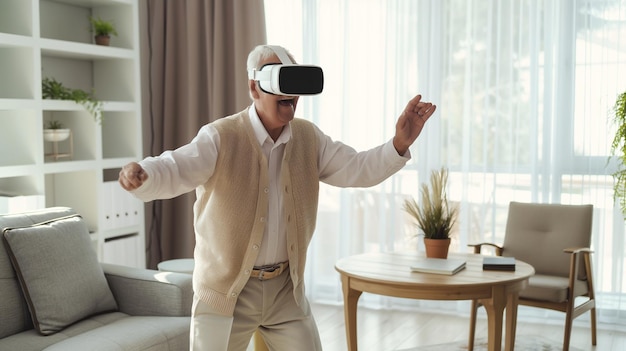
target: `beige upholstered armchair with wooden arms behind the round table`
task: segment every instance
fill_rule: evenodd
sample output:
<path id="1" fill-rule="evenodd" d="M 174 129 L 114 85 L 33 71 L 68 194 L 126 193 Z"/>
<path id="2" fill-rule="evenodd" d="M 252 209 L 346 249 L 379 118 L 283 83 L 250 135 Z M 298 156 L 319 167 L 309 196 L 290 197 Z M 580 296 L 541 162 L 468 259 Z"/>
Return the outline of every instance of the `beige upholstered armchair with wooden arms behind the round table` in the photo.
<path id="1" fill-rule="evenodd" d="M 574 318 L 587 311 L 591 314 L 591 343 L 596 345 L 596 302 L 589 249 L 592 220 L 593 205 L 511 202 L 503 245 L 469 245 L 474 247 L 474 253 L 489 246 L 497 256 L 515 257 L 535 268 L 536 274 L 520 293 L 519 304 L 565 312 L 563 350 L 569 350 Z M 584 301 L 577 303 L 577 298 Z M 479 303 L 472 301 L 470 350 L 478 307 Z"/>

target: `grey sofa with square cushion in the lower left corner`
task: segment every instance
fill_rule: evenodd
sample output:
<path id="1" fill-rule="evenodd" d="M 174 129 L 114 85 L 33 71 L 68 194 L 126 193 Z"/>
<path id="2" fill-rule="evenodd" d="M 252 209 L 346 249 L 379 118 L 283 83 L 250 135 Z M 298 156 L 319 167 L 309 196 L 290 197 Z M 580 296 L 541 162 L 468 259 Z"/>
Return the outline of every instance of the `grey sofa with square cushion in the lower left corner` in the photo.
<path id="1" fill-rule="evenodd" d="M 0 231 L 0 351 L 189 349 L 191 275 L 98 263 L 67 207 Z"/>

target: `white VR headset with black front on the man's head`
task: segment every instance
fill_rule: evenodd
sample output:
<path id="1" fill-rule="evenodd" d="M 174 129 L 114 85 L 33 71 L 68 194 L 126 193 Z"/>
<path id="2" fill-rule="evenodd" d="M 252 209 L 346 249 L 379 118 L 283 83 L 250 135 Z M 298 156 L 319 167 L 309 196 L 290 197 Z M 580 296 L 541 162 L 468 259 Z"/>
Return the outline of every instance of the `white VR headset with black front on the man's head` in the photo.
<path id="1" fill-rule="evenodd" d="M 282 64 L 267 64 L 260 70 L 249 69 L 248 79 L 257 81 L 261 90 L 268 94 L 299 96 L 322 92 L 324 72 L 321 67 L 295 64 L 282 47 L 269 47 Z"/>

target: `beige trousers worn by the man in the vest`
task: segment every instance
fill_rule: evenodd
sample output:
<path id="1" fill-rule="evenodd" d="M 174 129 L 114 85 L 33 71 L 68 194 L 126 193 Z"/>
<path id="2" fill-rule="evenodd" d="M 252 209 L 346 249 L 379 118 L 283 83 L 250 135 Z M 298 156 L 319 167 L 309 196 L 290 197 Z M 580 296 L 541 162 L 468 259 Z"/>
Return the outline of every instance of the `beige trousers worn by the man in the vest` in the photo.
<path id="1" fill-rule="evenodd" d="M 233 317 L 215 313 L 194 297 L 192 351 L 245 351 L 257 329 L 271 351 L 322 350 L 309 302 L 303 298 L 296 304 L 288 270 L 270 280 L 250 278 Z"/>

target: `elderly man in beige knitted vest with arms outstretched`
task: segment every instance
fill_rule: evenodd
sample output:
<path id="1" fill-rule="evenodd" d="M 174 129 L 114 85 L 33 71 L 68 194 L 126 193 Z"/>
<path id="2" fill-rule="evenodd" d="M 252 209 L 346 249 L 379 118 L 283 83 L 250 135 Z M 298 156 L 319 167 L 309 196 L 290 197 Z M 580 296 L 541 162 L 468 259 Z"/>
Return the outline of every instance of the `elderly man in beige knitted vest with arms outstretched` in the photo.
<path id="1" fill-rule="evenodd" d="M 248 56 L 248 69 L 280 63 L 269 46 Z M 415 96 L 392 140 L 356 152 L 294 118 L 298 96 L 268 93 L 252 79 L 248 87 L 249 108 L 124 166 L 119 182 L 143 201 L 196 190 L 192 350 L 245 350 L 257 329 L 272 350 L 321 350 L 303 284 L 319 182 L 382 182 L 409 160 L 436 106 Z"/>

